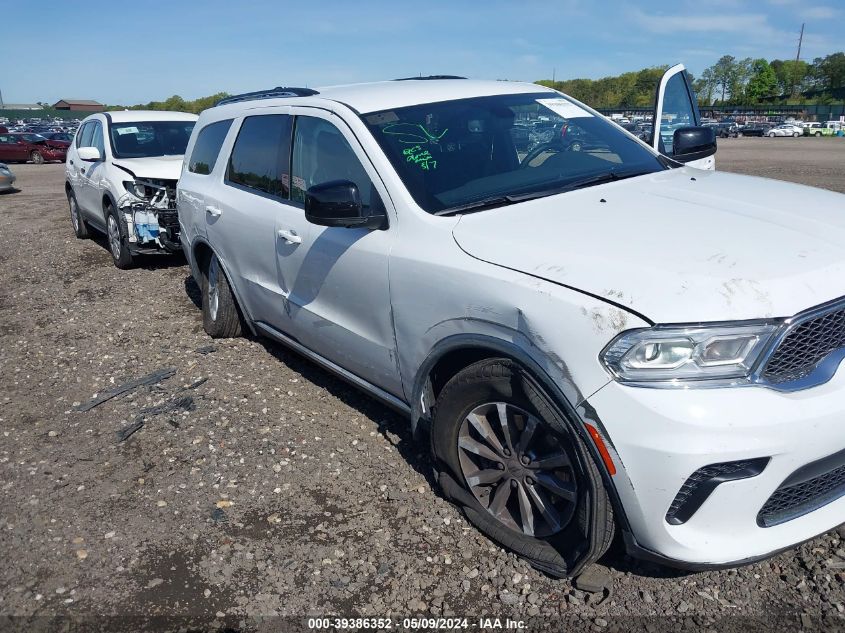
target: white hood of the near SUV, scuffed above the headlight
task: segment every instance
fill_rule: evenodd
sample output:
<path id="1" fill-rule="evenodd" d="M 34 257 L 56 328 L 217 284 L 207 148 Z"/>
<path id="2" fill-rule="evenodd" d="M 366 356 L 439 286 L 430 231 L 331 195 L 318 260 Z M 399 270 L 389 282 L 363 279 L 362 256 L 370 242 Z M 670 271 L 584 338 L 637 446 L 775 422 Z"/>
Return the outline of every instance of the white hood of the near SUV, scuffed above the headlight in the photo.
<path id="1" fill-rule="evenodd" d="M 680 168 L 462 216 L 477 259 L 655 323 L 786 317 L 845 295 L 845 196 Z"/>

